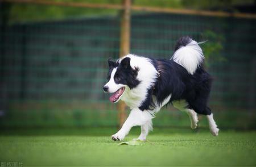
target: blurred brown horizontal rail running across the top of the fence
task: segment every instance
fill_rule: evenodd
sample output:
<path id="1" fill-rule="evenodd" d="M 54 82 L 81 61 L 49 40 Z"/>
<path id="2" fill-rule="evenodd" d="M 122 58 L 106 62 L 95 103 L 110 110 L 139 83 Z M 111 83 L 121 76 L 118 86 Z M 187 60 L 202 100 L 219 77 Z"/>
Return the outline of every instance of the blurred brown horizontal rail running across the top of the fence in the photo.
<path id="1" fill-rule="evenodd" d="M 12 3 L 31 3 L 38 5 L 55 5 L 55 6 L 67 6 L 67 7 L 88 7 L 94 9 L 115 9 L 123 10 L 123 5 L 117 4 L 98 4 L 98 3 L 84 3 L 84 2 L 59 2 L 49 0 L 0 0 L 0 2 L 12 2 Z M 201 16 L 217 16 L 217 17 L 234 17 L 234 18 L 247 18 L 256 19 L 256 14 L 248 14 L 241 12 L 223 12 L 223 11 L 204 11 L 204 10 L 189 10 L 189 9 L 173 9 L 162 7 L 148 7 L 148 6 L 131 6 L 131 10 L 134 11 L 147 11 L 147 12 L 164 12 L 172 14 L 188 14 L 188 15 L 201 15 Z"/>

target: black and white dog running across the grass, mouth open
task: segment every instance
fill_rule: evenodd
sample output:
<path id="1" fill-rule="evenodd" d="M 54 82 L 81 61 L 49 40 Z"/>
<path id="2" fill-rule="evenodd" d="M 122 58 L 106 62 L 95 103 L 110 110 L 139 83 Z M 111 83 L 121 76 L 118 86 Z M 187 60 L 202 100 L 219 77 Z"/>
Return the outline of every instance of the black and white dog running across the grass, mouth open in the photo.
<path id="1" fill-rule="evenodd" d="M 146 140 L 152 130 L 152 118 L 168 103 L 187 112 L 192 129 L 197 127 L 197 114 L 206 115 L 210 132 L 217 136 L 218 128 L 207 106 L 212 80 L 202 66 L 203 61 L 202 49 L 188 36 L 177 41 L 170 60 L 136 55 L 108 60 L 109 81 L 103 89 L 105 93 L 113 93 L 109 98 L 112 103 L 122 99 L 131 108 L 129 117 L 112 139 L 123 140 L 133 126 L 141 126 L 138 140 Z"/>

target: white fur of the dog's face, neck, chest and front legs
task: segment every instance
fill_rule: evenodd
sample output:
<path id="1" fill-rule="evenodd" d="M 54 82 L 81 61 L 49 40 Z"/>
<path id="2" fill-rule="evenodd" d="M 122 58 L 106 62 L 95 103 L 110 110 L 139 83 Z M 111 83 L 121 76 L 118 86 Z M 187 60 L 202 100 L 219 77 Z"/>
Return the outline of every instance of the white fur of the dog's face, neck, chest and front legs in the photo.
<path id="1" fill-rule="evenodd" d="M 159 111 L 160 108 L 170 100 L 171 95 L 161 104 L 155 108 L 154 111 L 141 111 L 139 106 L 146 99 L 147 89 L 154 85 L 154 81 L 157 78 L 158 72 L 151 64 L 150 59 L 146 57 L 139 57 L 135 55 L 127 55 L 125 57 L 130 57 L 131 68 L 139 68 L 137 80 L 141 81 L 137 87 L 131 89 L 127 85 L 117 84 L 114 82 L 114 74 L 117 68 L 114 68 L 108 83 L 105 86 L 109 86 L 109 92 L 114 93 L 121 87 L 125 86 L 125 92 L 122 94 L 121 99 L 131 108 L 131 112 L 125 123 L 123 124 L 121 130 L 112 136 L 114 140 L 123 140 L 123 138 L 129 133 L 131 127 L 141 126 L 142 133 L 139 136 L 139 140 L 146 140 L 148 131 L 152 130 L 152 118 L 154 118 L 154 113 Z M 122 57 L 124 59 L 125 57 Z M 119 59 L 121 63 L 122 59 Z"/>

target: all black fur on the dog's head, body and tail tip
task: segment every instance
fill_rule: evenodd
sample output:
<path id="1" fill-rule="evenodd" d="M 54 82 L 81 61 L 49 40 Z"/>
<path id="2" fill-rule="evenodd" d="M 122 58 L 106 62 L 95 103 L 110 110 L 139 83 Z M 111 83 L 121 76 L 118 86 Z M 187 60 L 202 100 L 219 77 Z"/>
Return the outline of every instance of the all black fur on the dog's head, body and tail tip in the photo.
<path id="1" fill-rule="evenodd" d="M 191 43 L 191 41 L 192 39 L 189 36 L 181 37 L 177 41 L 175 51 Z M 153 95 L 156 97 L 157 105 L 161 105 L 164 99 L 171 94 L 171 99 L 168 103 L 185 99 L 188 102 L 187 107 L 192 108 L 198 114 L 210 115 L 212 113 L 207 106 L 212 78 L 204 70 L 203 66 L 199 66 L 192 75 L 173 60 L 150 60 L 155 69 L 160 73 L 160 76 L 156 78 L 154 85 L 148 88 L 146 99 L 139 106 L 140 110 L 153 110 L 156 107 L 152 101 Z M 139 69 L 131 68 L 129 57 L 123 59 L 120 64 L 109 60 L 109 78 L 115 67 L 118 67 L 114 76 L 116 83 L 128 85 L 130 89 L 133 89 L 140 83 L 136 79 Z"/>

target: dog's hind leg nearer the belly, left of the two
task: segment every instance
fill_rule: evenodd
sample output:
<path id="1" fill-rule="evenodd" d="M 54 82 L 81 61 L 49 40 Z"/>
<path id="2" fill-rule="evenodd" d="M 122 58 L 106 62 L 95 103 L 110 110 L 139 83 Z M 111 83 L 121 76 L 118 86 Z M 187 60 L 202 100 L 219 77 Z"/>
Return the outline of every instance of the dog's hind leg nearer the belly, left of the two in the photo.
<path id="1" fill-rule="evenodd" d="M 172 105 L 178 110 L 184 111 L 188 114 L 191 122 L 190 127 L 192 129 L 195 129 L 197 127 L 197 123 L 198 123 L 197 114 L 194 110 L 188 108 L 188 103 L 185 100 L 174 101 L 172 102 Z"/>

